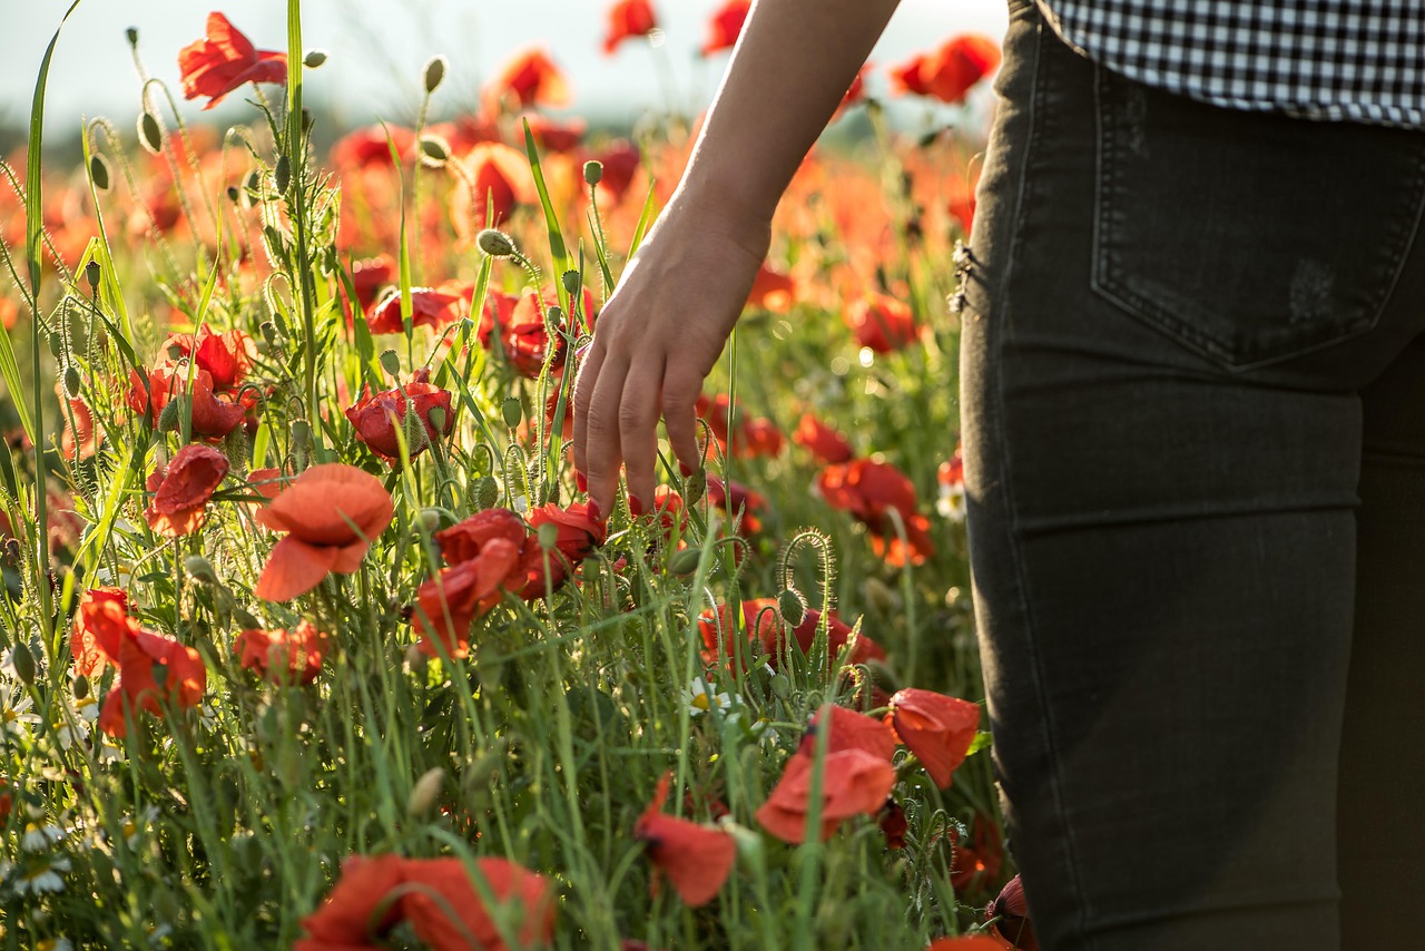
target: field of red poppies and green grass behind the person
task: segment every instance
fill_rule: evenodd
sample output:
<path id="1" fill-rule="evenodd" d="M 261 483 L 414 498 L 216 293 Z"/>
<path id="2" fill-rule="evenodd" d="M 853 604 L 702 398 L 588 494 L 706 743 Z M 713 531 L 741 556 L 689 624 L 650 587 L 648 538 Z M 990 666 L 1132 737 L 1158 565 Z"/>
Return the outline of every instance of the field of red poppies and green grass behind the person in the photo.
<path id="1" fill-rule="evenodd" d="M 621 0 L 590 43 L 656 27 Z M 798 173 L 647 512 L 581 500 L 569 396 L 684 120 L 587 135 L 547 50 L 447 108 L 437 57 L 413 127 L 316 154 L 292 0 L 285 41 L 212 13 L 177 94 L 135 56 L 77 170 L 31 124 L 0 947 L 1013 947 L 946 308 L 996 56 L 891 70 L 909 134 L 862 71 L 874 134 Z M 249 125 L 188 124 L 224 97 Z"/>

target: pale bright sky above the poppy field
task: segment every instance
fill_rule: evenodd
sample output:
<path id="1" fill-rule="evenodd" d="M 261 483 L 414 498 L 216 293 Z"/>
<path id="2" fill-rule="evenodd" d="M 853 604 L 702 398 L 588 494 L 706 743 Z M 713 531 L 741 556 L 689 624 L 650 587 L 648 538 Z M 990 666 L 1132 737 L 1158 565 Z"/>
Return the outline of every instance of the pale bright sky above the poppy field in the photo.
<path id="1" fill-rule="evenodd" d="M 28 120 L 34 80 L 44 48 L 70 0 L 0 0 L 0 125 Z M 214 0 L 215 1 L 215 0 Z M 801 0 L 814 10 L 818 0 Z M 727 54 L 703 60 L 708 14 L 721 0 L 654 0 L 663 43 L 627 43 L 614 56 L 601 51 L 603 14 L 610 0 L 305 0 L 302 40 L 328 53 L 308 74 L 309 100 L 326 103 L 339 123 L 375 118 L 410 121 L 422 67 L 435 54 L 449 58 L 437 110 L 475 100 L 480 83 L 514 51 L 544 46 L 570 77 L 573 111 L 628 121 L 675 106 L 700 111 L 712 96 Z M 144 67 L 178 88 L 178 50 L 204 33 L 214 9 L 195 0 L 81 0 L 60 34 L 46 106 L 46 128 L 63 135 L 81 117 L 107 115 L 125 127 L 138 115 L 140 80 L 124 38 L 137 27 Z M 285 0 L 228 0 L 232 24 L 258 48 L 286 47 Z M 956 33 L 996 40 L 1006 24 L 1003 0 L 902 0 L 872 54 L 878 66 L 903 61 Z M 884 83 L 884 80 L 878 80 Z M 875 91 L 876 86 L 872 86 Z M 229 97 L 217 115 L 248 121 L 244 96 Z M 198 103 L 181 103 L 185 118 Z"/>

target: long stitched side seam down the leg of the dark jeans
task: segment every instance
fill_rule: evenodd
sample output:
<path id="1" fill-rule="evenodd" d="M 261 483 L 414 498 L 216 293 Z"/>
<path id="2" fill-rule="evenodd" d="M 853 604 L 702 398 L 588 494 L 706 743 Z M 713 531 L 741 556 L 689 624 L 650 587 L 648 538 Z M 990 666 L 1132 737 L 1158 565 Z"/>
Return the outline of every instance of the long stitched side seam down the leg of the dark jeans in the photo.
<path id="1" fill-rule="evenodd" d="M 1033 165 L 1035 155 L 1039 151 L 1039 140 L 1040 140 L 1040 135 L 1042 135 L 1042 123 L 1040 123 L 1040 118 L 1042 118 L 1042 111 L 1043 111 L 1043 94 L 1045 94 L 1045 88 L 1043 88 L 1045 87 L 1045 68 L 1043 68 L 1043 60 L 1045 60 L 1045 29 L 1046 29 L 1046 24 L 1043 23 L 1043 20 L 1040 20 L 1039 27 L 1036 30 L 1036 36 L 1035 36 L 1035 73 L 1033 73 L 1033 83 L 1032 83 L 1032 90 L 1033 91 L 1032 91 L 1030 100 L 1029 100 L 1029 137 L 1027 137 L 1027 143 L 1025 145 L 1025 158 L 1022 160 L 1020 170 L 1019 170 L 1019 191 L 1017 191 L 1017 194 L 1015 197 L 1013 238 L 1010 240 L 1010 244 L 1009 244 L 1009 254 L 1007 254 L 1007 258 L 1005 261 L 1005 271 L 1003 271 L 1003 275 L 1000 277 L 1000 284 L 999 284 L 999 288 L 996 291 L 996 298 L 999 299 L 999 307 L 995 308 L 996 312 L 998 312 L 998 317 L 996 317 L 998 327 L 995 328 L 996 332 L 995 332 L 995 336 L 992 338 L 992 345 L 995 345 L 995 346 L 998 346 L 1000 349 L 1003 349 L 1003 348 L 1006 348 L 1009 345 L 1007 329 L 1009 329 L 1009 324 L 1010 324 L 1010 309 L 1012 309 L 1010 308 L 1010 298 L 1009 298 L 1009 287 L 1012 284 L 1010 278 L 1012 278 L 1012 275 L 1015 272 L 1015 264 L 1016 264 L 1016 261 L 1019 258 L 1020 245 L 1023 244 L 1025 218 L 1027 215 L 1027 208 L 1030 205 L 1029 195 L 1026 192 L 1030 191 L 1030 188 L 1029 188 L 1029 181 L 1032 180 L 1030 168 Z M 1000 466 L 1002 466 L 1002 473 L 1003 473 L 1003 478 L 1002 478 L 1002 486 L 1003 486 L 1003 489 L 1002 489 L 1002 502 L 1000 502 L 1000 505 L 1003 506 L 1005 513 L 1009 516 L 1007 519 L 1005 519 L 1005 522 L 1009 526 L 1007 539 L 1009 539 L 1010 557 L 1012 557 L 1013 565 L 1015 565 L 1015 569 L 1013 569 L 1015 570 L 1015 580 L 1016 580 L 1016 586 L 1017 586 L 1017 592 L 1019 592 L 1020 607 L 1023 609 L 1023 616 L 1025 616 L 1025 633 L 1026 633 L 1026 637 L 1027 637 L 1029 644 L 1030 644 L 1030 664 L 1029 664 L 1029 670 L 1030 670 L 1030 679 L 1032 679 L 1032 689 L 1033 689 L 1035 700 L 1039 704 L 1040 723 L 1042 723 L 1043 741 L 1045 741 L 1045 753 L 1046 753 L 1046 759 L 1049 761 L 1049 777 L 1047 778 L 1049 778 L 1050 797 L 1052 797 L 1052 801 L 1053 801 L 1053 808 L 1054 808 L 1056 818 L 1057 818 L 1059 826 L 1062 827 L 1063 836 L 1064 836 L 1064 864 L 1067 865 L 1067 870 L 1069 870 L 1069 888 L 1070 888 L 1070 893 L 1073 894 L 1074 905 L 1076 905 L 1076 910 L 1077 910 L 1076 911 L 1077 924 L 1074 925 L 1074 930 L 1086 941 L 1086 951 L 1093 951 L 1097 947 L 1097 941 L 1092 935 L 1087 934 L 1089 908 L 1087 908 L 1086 898 L 1084 898 L 1083 884 L 1082 884 L 1080 875 L 1079 875 L 1079 864 L 1077 864 L 1077 858 L 1076 858 L 1077 848 L 1074 845 L 1073 830 L 1070 828 L 1070 824 L 1067 821 L 1067 811 L 1064 808 L 1064 800 L 1063 800 L 1063 791 L 1062 791 L 1062 777 L 1060 777 L 1060 771 L 1059 771 L 1059 761 L 1057 761 L 1056 754 L 1054 754 L 1054 750 L 1056 750 L 1056 744 L 1054 744 L 1056 730 L 1054 730 L 1054 724 L 1053 724 L 1053 714 L 1050 711 L 1050 706 L 1049 706 L 1047 696 L 1046 696 L 1046 692 L 1045 692 L 1045 676 L 1043 676 L 1043 669 L 1040 666 L 1042 664 L 1042 659 L 1039 656 L 1039 652 L 1035 650 L 1033 609 L 1032 609 L 1030 597 L 1029 597 L 1029 579 L 1027 579 L 1026 572 L 1025 572 L 1025 563 L 1023 563 L 1023 556 L 1022 556 L 1022 549 L 1020 549 L 1019 515 L 1017 515 L 1017 512 L 1015 509 L 1015 505 L 1013 505 L 1013 499 L 1015 499 L 1015 493 L 1013 493 L 1013 476 L 1012 476 L 1013 466 L 1010 465 L 1010 455 L 1009 455 L 1009 448 L 1007 448 L 1009 443 L 1007 443 L 1006 433 L 1005 433 L 1005 429 L 1006 429 L 1006 413 L 1005 413 L 1005 385 L 1003 385 L 1005 368 L 1003 368 L 1003 359 L 1002 358 L 998 358 L 998 359 L 992 358 L 990 364 L 995 366 L 995 379 L 993 379 L 993 388 L 992 388 L 993 389 L 993 398 L 995 398 L 995 421 L 993 421 L 995 443 L 996 443 L 996 449 L 1000 453 Z"/>

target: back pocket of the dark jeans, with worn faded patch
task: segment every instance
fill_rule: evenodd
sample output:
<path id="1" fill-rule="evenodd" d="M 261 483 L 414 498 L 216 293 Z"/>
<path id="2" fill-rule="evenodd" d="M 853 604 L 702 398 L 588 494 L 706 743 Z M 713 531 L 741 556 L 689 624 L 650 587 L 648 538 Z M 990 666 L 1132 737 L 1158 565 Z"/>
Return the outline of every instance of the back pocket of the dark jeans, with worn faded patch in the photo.
<path id="1" fill-rule="evenodd" d="M 1097 67 L 1093 289 L 1233 369 L 1369 331 L 1425 134 L 1220 108 Z"/>

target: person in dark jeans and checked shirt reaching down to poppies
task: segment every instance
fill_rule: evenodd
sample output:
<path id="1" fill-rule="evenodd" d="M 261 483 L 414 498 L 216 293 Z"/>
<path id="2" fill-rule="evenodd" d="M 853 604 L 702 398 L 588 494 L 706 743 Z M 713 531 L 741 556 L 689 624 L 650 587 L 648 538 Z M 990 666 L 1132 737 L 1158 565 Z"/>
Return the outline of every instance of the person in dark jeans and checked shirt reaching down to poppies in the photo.
<path id="1" fill-rule="evenodd" d="M 584 355 L 598 512 L 693 403 L 893 0 L 758 0 Z M 1425 924 L 1425 11 L 1010 0 L 963 264 L 970 560 L 1040 947 Z M 946 388 L 953 381 L 946 381 Z M 946 399 L 952 394 L 946 392 Z"/>

